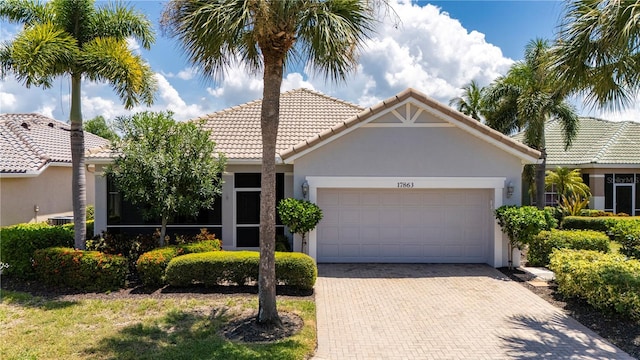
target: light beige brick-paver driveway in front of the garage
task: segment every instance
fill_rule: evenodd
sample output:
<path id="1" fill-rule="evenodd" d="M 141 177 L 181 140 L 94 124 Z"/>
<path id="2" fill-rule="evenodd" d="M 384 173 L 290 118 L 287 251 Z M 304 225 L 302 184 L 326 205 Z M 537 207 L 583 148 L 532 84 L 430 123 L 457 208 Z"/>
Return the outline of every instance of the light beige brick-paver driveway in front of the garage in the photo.
<path id="1" fill-rule="evenodd" d="M 318 270 L 315 359 L 631 359 L 487 265 Z"/>

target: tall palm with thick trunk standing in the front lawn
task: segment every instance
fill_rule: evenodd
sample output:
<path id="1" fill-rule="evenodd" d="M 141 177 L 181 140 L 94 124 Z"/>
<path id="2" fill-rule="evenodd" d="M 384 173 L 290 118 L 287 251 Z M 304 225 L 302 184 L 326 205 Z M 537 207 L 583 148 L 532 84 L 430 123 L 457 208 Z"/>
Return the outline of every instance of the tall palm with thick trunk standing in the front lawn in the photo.
<path id="1" fill-rule="evenodd" d="M 280 86 L 285 66 L 305 61 L 333 80 L 354 70 L 357 54 L 373 26 L 367 0 L 174 0 L 163 28 L 178 39 L 205 76 L 220 78 L 242 63 L 263 72 L 261 109 L 262 192 L 258 323 L 280 326 L 275 284 L 275 147 Z"/>

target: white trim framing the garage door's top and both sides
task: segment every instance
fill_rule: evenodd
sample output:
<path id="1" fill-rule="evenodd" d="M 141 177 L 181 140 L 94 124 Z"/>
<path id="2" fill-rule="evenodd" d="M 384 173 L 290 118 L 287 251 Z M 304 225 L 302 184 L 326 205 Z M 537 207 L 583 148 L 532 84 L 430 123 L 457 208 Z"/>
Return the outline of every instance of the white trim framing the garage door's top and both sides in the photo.
<path id="1" fill-rule="evenodd" d="M 342 177 L 342 176 L 306 176 L 309 183 L 309 201 L 318 202 L 318 189 L 397 189 L 403 190 L 399 183 L 411 184 L 411 189 L 493 189 L 491 210 L 502 206 L 505 177 Z M 317 232 L 309 232 L 308 252 L 318 260 Z M 502 230 L 494 221 L 493 259 L 487 259 L 493 267 L 503 266 Z"/>

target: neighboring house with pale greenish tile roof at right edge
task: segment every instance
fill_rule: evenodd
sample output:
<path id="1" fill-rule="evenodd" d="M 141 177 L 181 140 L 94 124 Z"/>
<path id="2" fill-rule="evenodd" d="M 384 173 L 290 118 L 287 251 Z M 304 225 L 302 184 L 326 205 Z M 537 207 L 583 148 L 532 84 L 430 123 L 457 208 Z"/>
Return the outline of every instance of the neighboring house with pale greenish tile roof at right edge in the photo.
<path id="1" fill-rule="evenodd" d="M 514 136 L 522 140 L 522 134 Z M 591 188 L 589 208 L 640 215 L 640 123 L 580 118 L 572 146 L 565 150 L 562 125 L 545 127 L 547 170 L 580 169 Z M 558 195 L 547 192 L 547 204 Z"/>

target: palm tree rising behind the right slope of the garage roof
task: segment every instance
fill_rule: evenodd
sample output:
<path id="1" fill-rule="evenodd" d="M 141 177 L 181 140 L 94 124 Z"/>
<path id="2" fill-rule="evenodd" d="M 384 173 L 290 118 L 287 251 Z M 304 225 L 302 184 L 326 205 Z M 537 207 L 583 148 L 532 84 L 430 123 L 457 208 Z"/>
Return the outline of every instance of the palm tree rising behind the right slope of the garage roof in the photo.
<path id="1" fill-rule="evenodd" d="M 574 108 L 564 99 L 557 79 L 547 71 L 547 41 L 536 39 L 525 48 L 524 61 L 514 64 L 507 75 L 498 78 L 487 90 L 491 109 L 487 124 L 505 134 L 524 128 L 524 142 L 539 150 L 541 162 L 536 167 L 535 189 L 538 208 L 544 207 L 544 177 L 547 155 L 544 128 L 547 120 L 558 119 L 564 130 L 565 149 L 571 146 L 578 127 Z"/>

